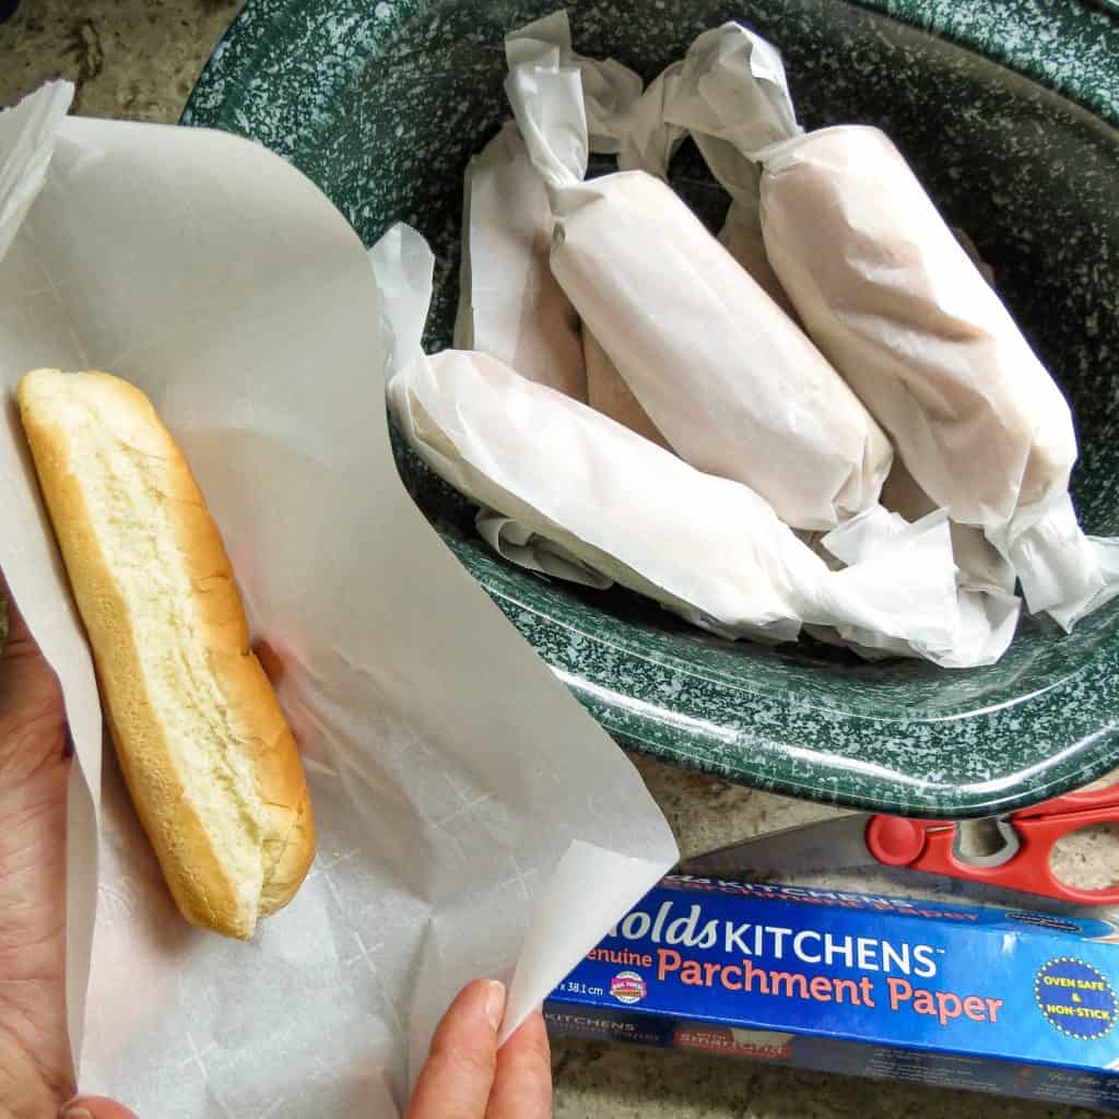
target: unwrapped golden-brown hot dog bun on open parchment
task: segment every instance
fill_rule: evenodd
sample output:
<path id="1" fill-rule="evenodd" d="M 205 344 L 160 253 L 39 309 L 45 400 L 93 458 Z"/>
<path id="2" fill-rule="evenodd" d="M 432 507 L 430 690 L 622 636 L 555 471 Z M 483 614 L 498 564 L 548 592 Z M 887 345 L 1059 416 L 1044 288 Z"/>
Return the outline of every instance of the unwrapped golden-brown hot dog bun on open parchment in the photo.
<path id="1" fill-rule="evenodd" d="M 307 780 L 217 526 L 138 388 L 36 369 L 17 391 L 121 768 L 182 915 L 247 939 L 314 857 Z"/>

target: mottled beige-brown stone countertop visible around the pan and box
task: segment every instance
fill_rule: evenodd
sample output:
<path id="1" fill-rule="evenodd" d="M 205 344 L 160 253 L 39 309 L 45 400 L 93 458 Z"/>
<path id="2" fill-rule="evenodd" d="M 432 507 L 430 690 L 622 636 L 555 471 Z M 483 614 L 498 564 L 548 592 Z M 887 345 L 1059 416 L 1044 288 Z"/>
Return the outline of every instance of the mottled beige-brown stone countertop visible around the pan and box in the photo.
<path id="1" fill-rule="evenodd" d="M 0 10 L 3 10 L 0 3 Z M 77 85 L 76 111 L 173 122 L 238 0 L 21 0 L 0 25 L 0 106 L 47 78 Z M 755 792 L 655 762 L 637 762 L 685 854 L 820 819 L 826 808 Z M 1113 835 L 1078 836 L 1060 853 L 1064 876 L 1085 886 L 1119 881 Z M 806 880 L 807 881 L 807 880 Z M 919 892 L 933 883 L 834 876 L 819 884 Z M 959 893 L 959 887 L 950 887 Z M 595 1043 L 555 1046 L 557 1119 L 1074 1119 L 1079 1108 L 861 1079 L 826 1076 L 694 1054 Z"/>

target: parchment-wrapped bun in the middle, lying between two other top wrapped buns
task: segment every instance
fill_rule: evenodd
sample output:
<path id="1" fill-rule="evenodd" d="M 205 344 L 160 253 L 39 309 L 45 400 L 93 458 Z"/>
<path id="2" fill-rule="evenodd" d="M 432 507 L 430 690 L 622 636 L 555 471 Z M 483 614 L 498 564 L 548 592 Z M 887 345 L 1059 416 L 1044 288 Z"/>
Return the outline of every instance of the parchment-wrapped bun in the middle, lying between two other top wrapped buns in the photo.
<path id="1" fill-rule="evenodd" d="M 552 271 L 657 430 L 796 528 L 873 506 L 892 452 L 869 414 L 668 186 L 641 171 L 583 181 L 579 74 L 529 47 L 506 90 L 548 186 Z"/>

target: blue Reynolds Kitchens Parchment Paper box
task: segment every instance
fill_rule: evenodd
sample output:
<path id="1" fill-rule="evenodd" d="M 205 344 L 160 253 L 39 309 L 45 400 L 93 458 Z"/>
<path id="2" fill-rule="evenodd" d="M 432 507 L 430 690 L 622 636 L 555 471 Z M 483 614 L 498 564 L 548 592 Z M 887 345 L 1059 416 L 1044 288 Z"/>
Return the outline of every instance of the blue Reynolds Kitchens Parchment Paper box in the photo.
<path id="1" fill-rule="evenodd" d="M 666 877 L 553 991 L 554 1034 L 1119 1111 L 1119 928 Z"/>

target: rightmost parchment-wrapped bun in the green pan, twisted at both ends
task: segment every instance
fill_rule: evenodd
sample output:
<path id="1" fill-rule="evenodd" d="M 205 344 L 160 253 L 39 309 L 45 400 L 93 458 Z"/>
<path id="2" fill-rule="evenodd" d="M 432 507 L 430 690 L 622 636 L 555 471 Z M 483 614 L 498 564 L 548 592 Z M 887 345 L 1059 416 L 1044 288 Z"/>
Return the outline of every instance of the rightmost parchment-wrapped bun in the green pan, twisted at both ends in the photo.
<path id="1" fill-rule="evenodd" d="M 1071 628 L 1119 583 L 1115 545 L 1084 536 L 1069 499 L 1064 396 L 896 148 L 863 125 L 803 133 L 775 55 L 740 25 L 700 36 L 669 119 L 709 138 L 721 179 L 763 163 L 768 255 L 806 328 L 921 489 Z"/>

